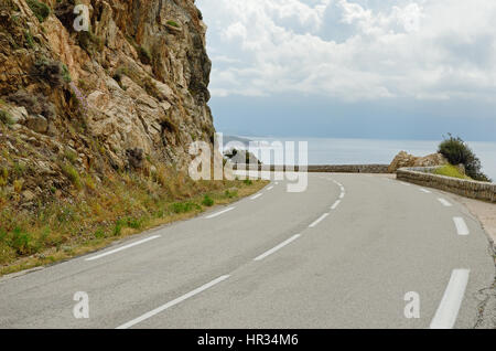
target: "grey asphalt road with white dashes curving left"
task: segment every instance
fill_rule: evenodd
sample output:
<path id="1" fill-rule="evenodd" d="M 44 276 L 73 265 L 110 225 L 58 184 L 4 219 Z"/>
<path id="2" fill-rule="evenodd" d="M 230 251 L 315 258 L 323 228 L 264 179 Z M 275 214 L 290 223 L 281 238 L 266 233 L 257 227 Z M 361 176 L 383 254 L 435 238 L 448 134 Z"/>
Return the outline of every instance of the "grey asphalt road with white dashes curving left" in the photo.
<path id="1" fill-rule="evenodd" d="M 463 205 L 386 177 L 309 177 L 305 192 L 272 182 L 230 206 L 2 279 L 0 328 L 474 327 L 495 267 Z M 73 315 L 77 291 L 89 298 L 87 319 Z M 419 318 L 407 318 L 416 301 L 407 316 Z"/>

